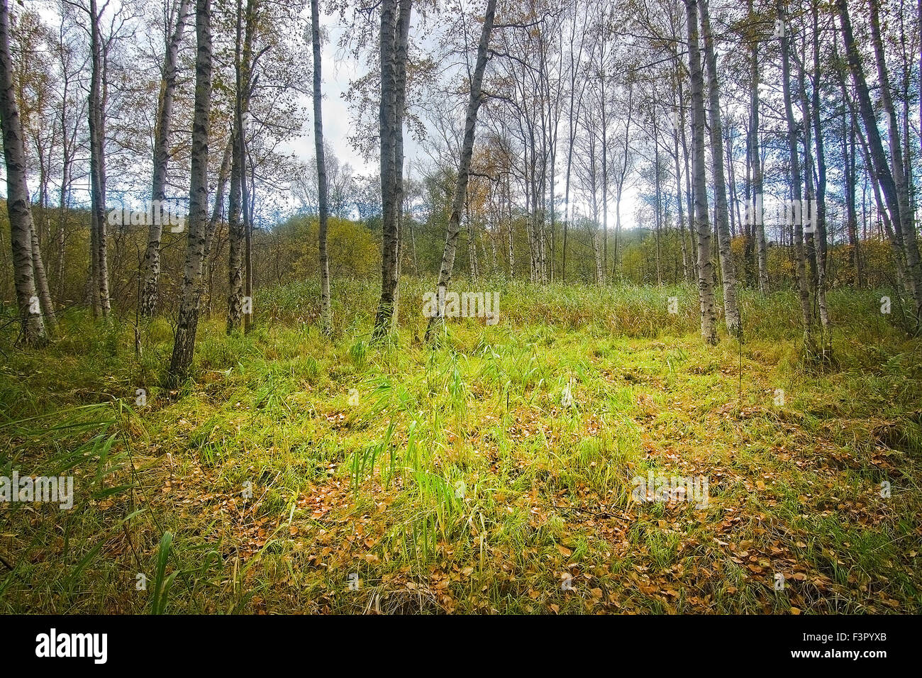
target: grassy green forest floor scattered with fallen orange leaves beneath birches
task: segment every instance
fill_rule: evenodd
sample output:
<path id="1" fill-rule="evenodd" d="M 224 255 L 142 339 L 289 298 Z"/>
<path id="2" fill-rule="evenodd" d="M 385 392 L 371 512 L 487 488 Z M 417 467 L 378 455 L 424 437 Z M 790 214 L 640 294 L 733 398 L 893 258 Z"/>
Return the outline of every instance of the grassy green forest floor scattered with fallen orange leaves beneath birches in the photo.
<path id="1" fill-rule="evenodd" d="M 203 320 L 179 391 L 164 320 L 139 358 L 80 314 L 5 337 L 0 475 L 75 481 L 0 504 L 0 613 L 922 611 L 922 341 L 887 292 L 833 292 L 816 370 L 784 292 L 708 347 L 691 288 L 497 283 L 501 322 L 431 351 L 419 280 L 370 344 L 375 289 L 335 286 L 333 339 L 308 284 L 246 337 Z M 673 476 L 706 501 L 635 491 Z"/>

